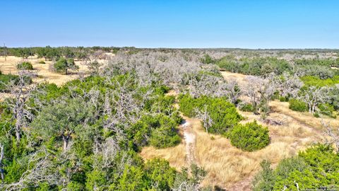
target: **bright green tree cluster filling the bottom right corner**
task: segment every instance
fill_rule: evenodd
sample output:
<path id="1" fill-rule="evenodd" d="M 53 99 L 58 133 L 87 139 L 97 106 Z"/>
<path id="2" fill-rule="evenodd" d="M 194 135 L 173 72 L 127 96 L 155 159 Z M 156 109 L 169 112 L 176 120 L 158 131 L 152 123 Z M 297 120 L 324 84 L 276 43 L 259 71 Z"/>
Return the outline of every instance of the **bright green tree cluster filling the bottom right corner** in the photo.
<path id="1" fill-rule="evenodd" d="M 336 190 L 339 185 L 339 154 L 329 145 L 318 144 L 298 156 L 280 161 L 273 170 L 261 163 L 253 190 Z"/>

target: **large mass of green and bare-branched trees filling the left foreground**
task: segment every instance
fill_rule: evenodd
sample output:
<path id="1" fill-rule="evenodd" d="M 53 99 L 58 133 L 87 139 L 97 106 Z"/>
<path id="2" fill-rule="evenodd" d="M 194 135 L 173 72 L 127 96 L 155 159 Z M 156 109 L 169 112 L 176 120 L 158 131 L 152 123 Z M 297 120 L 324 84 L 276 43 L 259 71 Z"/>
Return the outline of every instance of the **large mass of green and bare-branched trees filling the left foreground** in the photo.
<path id="1" fill-rule="evenodd" d="M 178 172 L 162 159 L 144 162 L 143 146 L 179 144 L 179 111 L 168 88 L 140 86 L 133 73 L 42 83 L 23 106 L 20 139 L 16 111 L 1 103 L 0 184 L 12 190 L 171 190 L 198 187 L 206 171 Z M 145 96 L 147 95 L 147 96 Z M 190 171 L 191 173 L 188 173 Z"/>

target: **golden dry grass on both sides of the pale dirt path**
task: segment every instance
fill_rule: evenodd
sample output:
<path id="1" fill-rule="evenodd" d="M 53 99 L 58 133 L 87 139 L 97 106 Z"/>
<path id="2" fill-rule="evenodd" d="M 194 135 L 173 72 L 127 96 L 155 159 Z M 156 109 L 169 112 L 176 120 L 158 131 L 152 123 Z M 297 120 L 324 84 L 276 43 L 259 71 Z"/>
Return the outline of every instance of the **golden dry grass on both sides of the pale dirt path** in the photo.
<path id="1" fill-rule="evenodd" d="M 294 112 L 288 108 L 288 103 L 273 101 L 270 106 L 273 107 L 273 112 L 269 117 L 283 120 L 284 125 L 266 125 L 260 121 L 260 115 L 238 111 L 246 118 L 242 123 L 257 120 L 270 131 L 270 144 L 254 152 L 237 149 L 220 135 L 206 134 L 198 119 L 185 117 L 196 134 L 196 163 L 208 171 L 204 185 L 218 185 L 228 190 L 250 190 L 251 180 L 261 169 L 260 163 L 263 159 L 276 166 L 283 158 L 293 156 L 307 146 L 323 140 L 320 119 L 308 113 Z M 332 122 L 333 125 L 338 124 L 338 120 Z M 184 144 L 168 149 L 147 147 L 143 149 L 141 156 L 147 159 L 166 158 L 177 169 L 186 166 Z"/>

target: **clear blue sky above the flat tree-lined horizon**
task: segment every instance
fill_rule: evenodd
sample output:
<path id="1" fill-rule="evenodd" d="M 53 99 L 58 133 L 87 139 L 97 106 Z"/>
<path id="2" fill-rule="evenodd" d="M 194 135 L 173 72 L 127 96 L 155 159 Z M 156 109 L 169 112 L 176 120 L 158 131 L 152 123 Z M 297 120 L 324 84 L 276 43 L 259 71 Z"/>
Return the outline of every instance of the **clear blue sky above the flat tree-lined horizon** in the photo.
<path id="1" fill-rule="evenodd" d="M 0 0 L 22 46 L 339 48 L 338 0 Z"/>

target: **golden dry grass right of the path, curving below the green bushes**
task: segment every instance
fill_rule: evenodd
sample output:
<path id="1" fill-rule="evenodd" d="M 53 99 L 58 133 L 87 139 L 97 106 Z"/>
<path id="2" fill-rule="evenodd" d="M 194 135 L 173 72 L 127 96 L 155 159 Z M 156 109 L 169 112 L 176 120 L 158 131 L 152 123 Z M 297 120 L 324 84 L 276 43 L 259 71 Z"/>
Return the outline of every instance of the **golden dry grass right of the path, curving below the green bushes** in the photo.
<path id="1" fill-rule="evenodd" d="M 258 115 L 241 113 L 247 117 L 244 122 L 259 120 Z M 273 113 L 270 117 L 285 117 L 285 125 L 265 125 L 270 130 L 270 144 L 254 152 L 237 149 L 225 137 L 206 134 L 201 125 L 196 125 L 196 158 L 198 164 L 208 170 L 208 176 L 204 180 L 206 185 L 232 189 L 238 181 L 246 180 L 241 189 L 249 190 L 251 178 L 260 170 L 263 159 L 271 161 L 275 166 L 281 159 L 295 155 L 297 151 L 321 141 L 321 134 L 318 134 L 316 129 L 302 125 L 292 117 L 280 113 Z"/>

